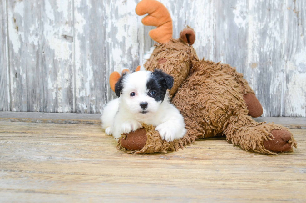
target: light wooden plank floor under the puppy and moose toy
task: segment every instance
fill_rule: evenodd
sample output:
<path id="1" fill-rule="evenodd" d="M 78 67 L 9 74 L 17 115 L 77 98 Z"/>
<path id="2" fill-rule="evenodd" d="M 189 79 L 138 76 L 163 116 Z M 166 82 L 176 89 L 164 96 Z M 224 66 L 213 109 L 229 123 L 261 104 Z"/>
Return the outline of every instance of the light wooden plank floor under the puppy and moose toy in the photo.
<path id="1" fill-rule="evenodd" d="M 62 114 L 47 123 L 37 115 L 11 122 L 19 120 L 0 112 L 0 202 L 306 201 L 305 118 L 291 129 L 298 149 L 278 156 L 224 138 L 131 155 L 115 149 L 96 115 L 90 124 L 74 115 L 78 121 L 59 122 Z"/>

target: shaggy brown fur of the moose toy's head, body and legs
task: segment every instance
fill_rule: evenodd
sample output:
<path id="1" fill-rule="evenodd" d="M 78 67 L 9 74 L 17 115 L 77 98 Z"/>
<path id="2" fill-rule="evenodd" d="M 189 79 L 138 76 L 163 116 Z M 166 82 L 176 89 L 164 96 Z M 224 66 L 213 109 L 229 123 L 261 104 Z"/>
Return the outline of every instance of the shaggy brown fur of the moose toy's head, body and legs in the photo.
<path id="1" fill-rule="evenodd" d="M 131 150 L 131 153 L 176 151 L 197 138 L 225 135 L 227 140 L 244 150 L 276 154 L 264 147 L 264 141 L 273 140 L 273 130 L 286 128 L 257 123 L 248 115 L 244 95 L 254 92 L 243 79 L 243 74 L 228 64 L 199 60 L 193 47 L 182 38 L 155 46 L 145 68 L 150 71 L 162 69 L 174 77 L 170 91 L 172 103 L 184 116 L 187 133 L 182 139 L 168 143 L 160 138 L 153 126 L 144 124 L 146 143 L 141 150 Z M 286 142 L 292 150 L 296 142 L 290 135 Z M 118 148 L 129 150 L 121 145 L 121 140 Z"/>

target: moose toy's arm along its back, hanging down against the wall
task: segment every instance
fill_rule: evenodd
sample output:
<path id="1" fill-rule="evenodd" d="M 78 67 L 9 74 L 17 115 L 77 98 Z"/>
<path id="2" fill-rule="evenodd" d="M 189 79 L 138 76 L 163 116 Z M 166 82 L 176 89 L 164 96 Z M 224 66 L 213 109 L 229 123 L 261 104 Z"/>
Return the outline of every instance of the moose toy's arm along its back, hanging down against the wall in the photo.
<path id="1" fill-rule="evenodd" d="M 249 115 L 253 118 L 259 117 L 263 113 L 263 108 L 255 96 L 254 91 L 249 86 L 248 82 L 243 78 L 242 73 L 238 73 L 236 69 L 232 68 L 228 64 L 221 64 L 222 69 L 227 69 L 228 73 L 234 77 L 234 80 L 240 84 L 240 93 L 243 95 L 243 99 L 249 110 Z"/>

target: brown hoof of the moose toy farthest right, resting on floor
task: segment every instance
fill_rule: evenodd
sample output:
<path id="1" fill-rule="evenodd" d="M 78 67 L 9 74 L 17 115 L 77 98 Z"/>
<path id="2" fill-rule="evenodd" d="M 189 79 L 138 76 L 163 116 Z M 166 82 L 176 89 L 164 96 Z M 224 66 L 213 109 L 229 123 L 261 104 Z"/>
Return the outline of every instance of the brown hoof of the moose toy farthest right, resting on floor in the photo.
<path id="1" fill-rule="evenodd" d="M 288 130 L 272 130 L 273 140 L 264 140 L 264 147 L 273 152 L 286 152 L 291 150 L 291 133 Z"/>

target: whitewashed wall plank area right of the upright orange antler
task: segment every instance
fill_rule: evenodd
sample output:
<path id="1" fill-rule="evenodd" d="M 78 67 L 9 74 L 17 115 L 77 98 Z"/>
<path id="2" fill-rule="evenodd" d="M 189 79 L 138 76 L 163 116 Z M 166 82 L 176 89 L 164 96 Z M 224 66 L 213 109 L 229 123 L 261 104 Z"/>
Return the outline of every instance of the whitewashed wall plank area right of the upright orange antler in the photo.
<path id="1" fill-rule="evenodd" d="M 160 1 L 168 8 L 173 21 L 173 38 L 180 37 L 180 31 L 187 25 L 195 30 L 195 43 L 192 45 L 198 57 L 215 60 L 216 48 L 216 0 Z M 216 5 L 216 7 L 215 7 Z M 221 7 L 221 5 L 219 5 Z M 224 5 L 222 5 L 223 7 Z M 225 8 L 226 9 L 226 8 Z"/>

